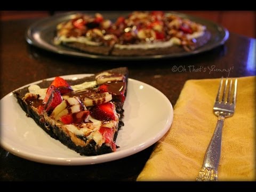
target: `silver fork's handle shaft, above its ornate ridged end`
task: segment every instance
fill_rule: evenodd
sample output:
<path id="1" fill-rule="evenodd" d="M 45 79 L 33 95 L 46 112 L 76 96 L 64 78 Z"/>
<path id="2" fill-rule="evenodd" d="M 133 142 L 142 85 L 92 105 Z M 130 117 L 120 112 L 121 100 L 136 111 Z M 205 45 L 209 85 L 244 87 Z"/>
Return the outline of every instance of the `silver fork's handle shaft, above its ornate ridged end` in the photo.
<path id="1" fill-rule="evenodd" d="M 218 171 L 218 166 L 220 162 L 220 152 L 221 152 L 221 136 L 222 136 L 222 127 L 224 124 L 225 117 L 219 116 L 215 131 L 213 133 L 212 139 L 209 143 L 209 146 L 206 150 L 204 156 L 203 167 L 213 169 Z"/>

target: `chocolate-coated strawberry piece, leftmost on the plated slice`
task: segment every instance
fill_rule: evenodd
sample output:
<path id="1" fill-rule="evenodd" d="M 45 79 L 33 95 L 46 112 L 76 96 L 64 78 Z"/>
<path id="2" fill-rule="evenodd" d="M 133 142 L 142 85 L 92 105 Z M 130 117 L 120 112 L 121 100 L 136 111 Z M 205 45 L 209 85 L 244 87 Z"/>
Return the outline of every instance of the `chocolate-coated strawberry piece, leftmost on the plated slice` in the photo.
<path id="1" fill-rule="evenodd" d="M 51 114 L 53 109 L 55 107 L 57 107 L 62 102 L 62 97 L 61 97 L 60 91 L 54 86 L 50 86 L 50 87 L 53 87 L 53 90 L 51 92 L 51 95 L 50 95 L 47 103 L 44 106 L 44 110 L 47 112 L 47 114 Z"/>

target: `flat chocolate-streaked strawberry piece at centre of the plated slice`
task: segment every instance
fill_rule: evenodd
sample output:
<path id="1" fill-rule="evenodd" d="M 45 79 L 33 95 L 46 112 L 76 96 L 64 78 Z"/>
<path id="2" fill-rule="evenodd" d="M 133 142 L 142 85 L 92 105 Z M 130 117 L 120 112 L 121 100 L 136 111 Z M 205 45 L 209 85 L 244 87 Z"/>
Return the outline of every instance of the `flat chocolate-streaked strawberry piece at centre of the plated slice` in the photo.
<path id="1" fill-rule="evenodd" d="M 89 116 L 90 111 L 79 111 L 77 113 L 68 114 L 65 116 L 62 116 L 60 118 L 60 121 L 65 124 L 79 124 L 79 123 L 85 123 L 87 121 L 87 117 Z"/>

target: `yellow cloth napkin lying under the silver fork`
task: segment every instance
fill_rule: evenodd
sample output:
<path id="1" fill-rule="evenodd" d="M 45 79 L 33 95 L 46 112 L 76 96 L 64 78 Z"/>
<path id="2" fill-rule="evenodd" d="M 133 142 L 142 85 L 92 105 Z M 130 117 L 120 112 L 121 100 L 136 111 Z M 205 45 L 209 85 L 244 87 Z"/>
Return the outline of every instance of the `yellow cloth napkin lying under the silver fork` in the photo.
<path id="1" fill-rule="evenodd" d="M 238 78 L 233 117 L 222 130 L 219 181 L 255 180 L 256 76 Z M 195 181 L 213 135 L 213 104 L 220 79 L 189 80 L 177 104 L 170 130 L 159 140 L 138 181 Z"/>

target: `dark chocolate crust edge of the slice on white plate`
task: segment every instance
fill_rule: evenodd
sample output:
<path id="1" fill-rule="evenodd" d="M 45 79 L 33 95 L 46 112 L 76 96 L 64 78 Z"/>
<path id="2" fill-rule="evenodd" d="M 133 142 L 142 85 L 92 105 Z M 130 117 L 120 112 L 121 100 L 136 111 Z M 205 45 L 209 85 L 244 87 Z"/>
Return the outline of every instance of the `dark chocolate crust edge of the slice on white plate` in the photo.
<path id="1" fill-rule="evenodd" d="M 116 73 L 121 73 L 126 76 L 126 83 L 127 83 L 127 76 L 128 76 L 128 70 L 126 67 L 122 68 L 116 68 L 108 71 L 114 71 Z M 95 75 L 91 77 L 84 77 L 81 79 L 77 79 L 75 81 L 69 80 L 70 85 L 75 85 L 79 83 L 83 83 L 85 81 L 93 81 L 95 79 Z M 38 83 L 37 85 L 41 86 L 42 88 L 46 88 L 51 84 L 52 81 L 42 81 L 41 83 Z M 125 90 L 125 94 L 127 91 L 127 86 Z M 97 147 L 96 143 L 94 140 L 90 140 L 87 142 L 87 145 L 82 147 L 82 146 L 77 146 L 71 139 L 68 137 L 68 135 L 62 131 L 58 126 L 52 126 L 48 122 L 46 122 L 43 118 L 43 116 L 39 116 L 27 103 L 22 99 L 25 94 L 28 92 L 28 87 L 25 87 L 23 89 L 14 91 L 14 97 L 17 98 L 17 101 L 21 108 L 26 112 L 26 115 L 28 117 L 31 117 L 34 119 L 37 125 L 39 125 L 47 134 L 49 134 L 52 138 L 59 140 L 63 145 L 67 146 L 70 149 L 75 150 L 77 153 L 80 155 L 85 155 L 85 156 L 92 156 L 92 155 L 101 155 L 101 154 L 106 154 L 106 153 L 111 153 L 113 152 L 112 149 L 105 145 L 103 143 L 102 146 Z M 116 105 L 116 111 L 118 114 L 120 114 L 119 118 L 119 123 L 118 123 L 118 131 L 121 129 L 121 127 L 124 125 L 122 118 L 124 116 L 124 110 L 123 110 L 123 103 L 121 102 L 114 102 Z M 25 118 L 25 117 L 24 117 Z M 114 141 L 117 138 L 118 131 L 115 132 L 114 135 Z M 79 139 L 85 139 L 85 138 L 79 138 Z"/>

